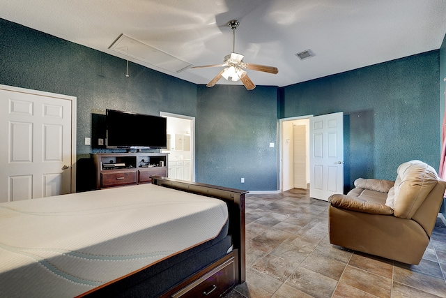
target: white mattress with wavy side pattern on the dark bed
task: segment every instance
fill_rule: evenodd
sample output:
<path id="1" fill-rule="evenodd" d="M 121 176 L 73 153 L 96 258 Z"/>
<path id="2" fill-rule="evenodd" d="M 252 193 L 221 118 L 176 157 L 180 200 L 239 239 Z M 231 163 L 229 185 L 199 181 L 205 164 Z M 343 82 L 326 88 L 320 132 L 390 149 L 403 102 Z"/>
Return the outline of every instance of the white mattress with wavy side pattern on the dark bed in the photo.
<path id="1" fill-rule="evenodd" d="M 215 238 L 221 200 L 143 184 L 0 204 L 0 295 L 74 297 Z"/>

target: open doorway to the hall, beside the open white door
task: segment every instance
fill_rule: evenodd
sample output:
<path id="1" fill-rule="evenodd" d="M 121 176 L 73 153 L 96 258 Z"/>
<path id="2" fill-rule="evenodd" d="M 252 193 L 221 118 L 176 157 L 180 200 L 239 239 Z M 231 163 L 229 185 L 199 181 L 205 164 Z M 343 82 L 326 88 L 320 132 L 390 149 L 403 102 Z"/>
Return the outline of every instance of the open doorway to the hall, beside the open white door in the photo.
<path id="1" fill-rule="evenodd" d="M 282 191 L 309 188 L 309 117 L 280 120 Z"/>

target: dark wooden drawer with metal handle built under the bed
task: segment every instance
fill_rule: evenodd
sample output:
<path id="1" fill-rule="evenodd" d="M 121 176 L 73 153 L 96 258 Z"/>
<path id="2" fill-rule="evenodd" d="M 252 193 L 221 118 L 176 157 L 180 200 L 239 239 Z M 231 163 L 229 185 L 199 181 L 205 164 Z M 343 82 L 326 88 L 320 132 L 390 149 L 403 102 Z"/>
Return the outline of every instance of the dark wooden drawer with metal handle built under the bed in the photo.
<path id="1" fill-rule="evenodd" d="M 234 284 L 235 265 L 234 258 L 230 258 L 221 265 L 210 269 L 196 281 L 179 290 L 172 298 L 185 297 L 220 297 Z"/>

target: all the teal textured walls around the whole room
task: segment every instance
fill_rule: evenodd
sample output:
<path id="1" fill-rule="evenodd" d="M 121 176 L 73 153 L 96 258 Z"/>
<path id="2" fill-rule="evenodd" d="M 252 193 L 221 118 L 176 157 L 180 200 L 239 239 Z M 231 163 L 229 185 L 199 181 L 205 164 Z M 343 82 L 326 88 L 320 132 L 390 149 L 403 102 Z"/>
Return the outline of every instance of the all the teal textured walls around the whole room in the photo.
<path id="1" fill-rule="evenodd" d="M 84 137 L 93 134 L 93 114 L 106 108 L 197 117 L 197 181 L 204 183 L 276 190 L 278 117 L 339 111 L 346 188 L 356 177 L 394 179 L 397 165 L 413 158 L 438 168 L 440 56 L 444 43 L 440 51 L 289 87 L 207 88 L 132 63 L 126 78 L 123 59 L 0 19 L 0 84 L 77 97 L 78 190 L 88 188 L 82 184 L 91 172 L 79 167 L 93 152 Z"/>

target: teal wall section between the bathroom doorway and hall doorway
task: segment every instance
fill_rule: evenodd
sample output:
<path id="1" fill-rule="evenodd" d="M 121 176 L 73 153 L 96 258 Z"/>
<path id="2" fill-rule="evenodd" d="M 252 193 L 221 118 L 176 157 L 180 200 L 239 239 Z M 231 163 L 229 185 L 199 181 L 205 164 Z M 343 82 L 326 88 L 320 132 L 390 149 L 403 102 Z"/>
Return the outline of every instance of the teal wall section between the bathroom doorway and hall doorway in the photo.
<path id="1" fill-rule="evenodd" d="M 197 95 L 197 180 L 277 190 L 277 87 L 199 85 Z"/>

